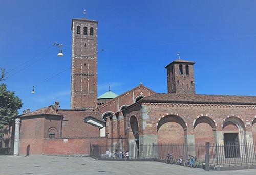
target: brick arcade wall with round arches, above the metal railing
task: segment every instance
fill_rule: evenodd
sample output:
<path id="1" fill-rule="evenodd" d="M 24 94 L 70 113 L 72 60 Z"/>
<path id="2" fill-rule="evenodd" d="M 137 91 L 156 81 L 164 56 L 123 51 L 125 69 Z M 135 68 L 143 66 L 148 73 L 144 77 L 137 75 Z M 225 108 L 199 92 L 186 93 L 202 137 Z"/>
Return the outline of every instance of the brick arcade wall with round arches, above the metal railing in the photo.
<path id="1" fill-rule="evenodd" d="M 143 100 L 142 100 L 143 101 Z M 141 109 L 138 111 L 138 109 Z M 164 109 L 166 109 L 165 112 Z M 137 106 L 125 109 L 124 116 L 130 117 L 129 127 L 132 135 L 129 140 L 139 140 L 141 144 L 169 144 L 169 143 L 217 143 L 227 144 L 237 142 L 240 144 L 256 141 L 255 116 L 243 115 L 242 110 L 237 110 L 238 115 L 228 115 L 229 111 L 210 109 L 216 115 L 209 116 L 209 111 L 198 109 L 194 111 L 184 108 L 159 109 L 156 106 L 141 102 Z M 255 111 L 255 106 L 252 108 Z M 179 111 L 179 114 L 172 111 Z M 189 112 L 189 113 L 188 113 Z M 162 115 L 165 113 L 166 115 Z M 186 116 L 180 114 L 185 113 Z M 200 114 L 200 113 L 206 113 Z M 236 113 L 236 111 L 233 111 Z M 130 116 L 130 114 L 133 114 Z M 136 114 L 136 115 L 135 115 Z M 200 114 L 200 115 L 198 115 Z M 139 133 L 139 136 L 138 136 Z M 139 137 L 139 139 L 138 139 Z"/>

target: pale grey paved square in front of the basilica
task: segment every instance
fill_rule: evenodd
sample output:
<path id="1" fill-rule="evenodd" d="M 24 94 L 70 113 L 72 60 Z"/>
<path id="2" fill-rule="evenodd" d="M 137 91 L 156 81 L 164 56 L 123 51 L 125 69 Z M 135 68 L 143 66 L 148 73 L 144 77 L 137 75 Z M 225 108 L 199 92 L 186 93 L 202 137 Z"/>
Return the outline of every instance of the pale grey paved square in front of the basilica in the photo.
<path id="1" fill-rule="evenodd" d="M 0 155 L 0 174 L 256 174 L 256 170 L 217 172 L 160 162 L 102 161 L 90 157 Z"/>

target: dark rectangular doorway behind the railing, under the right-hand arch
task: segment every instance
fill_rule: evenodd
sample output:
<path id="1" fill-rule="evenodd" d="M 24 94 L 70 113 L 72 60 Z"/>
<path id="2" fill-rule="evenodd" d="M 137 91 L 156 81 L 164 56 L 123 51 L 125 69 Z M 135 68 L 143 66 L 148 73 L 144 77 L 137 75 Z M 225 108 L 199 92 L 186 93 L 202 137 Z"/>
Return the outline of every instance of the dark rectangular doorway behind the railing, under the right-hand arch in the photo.
<path id="1" fill-rule="evenodd" d="M 225 158 L 240 157 L 238 133 L 224 133 Z"/>

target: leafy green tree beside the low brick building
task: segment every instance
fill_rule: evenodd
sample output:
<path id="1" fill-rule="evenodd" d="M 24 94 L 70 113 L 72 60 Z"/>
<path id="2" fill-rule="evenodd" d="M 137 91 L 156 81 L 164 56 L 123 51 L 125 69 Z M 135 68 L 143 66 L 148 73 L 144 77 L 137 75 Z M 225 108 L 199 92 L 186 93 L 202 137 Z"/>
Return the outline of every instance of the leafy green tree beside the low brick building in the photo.
<path id="1" fill-rule="evenodd" d="M 5 78 L 5 69 L 2 69 L 0 81 Z M 22 108 L 22 101 L 15 96 L 15 92 L 7 91 L 6 84 L 0 85 L 0 141 L 3 138 L 4 124 L 10 124 L 12 117 L 18 115 L 18 109 Z"/>

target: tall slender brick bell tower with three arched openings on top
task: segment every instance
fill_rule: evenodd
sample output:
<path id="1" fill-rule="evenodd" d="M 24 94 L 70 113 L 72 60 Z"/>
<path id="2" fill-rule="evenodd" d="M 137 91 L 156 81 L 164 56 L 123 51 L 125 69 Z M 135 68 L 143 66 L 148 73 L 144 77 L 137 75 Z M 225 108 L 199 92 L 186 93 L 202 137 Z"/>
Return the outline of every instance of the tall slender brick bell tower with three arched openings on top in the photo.
<path id="1" fill-rule="evenodd" d="M 72 19 L 71 109 L 97 108 L 98 21 Z"/>

